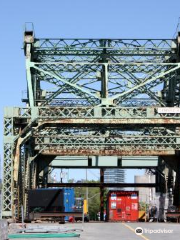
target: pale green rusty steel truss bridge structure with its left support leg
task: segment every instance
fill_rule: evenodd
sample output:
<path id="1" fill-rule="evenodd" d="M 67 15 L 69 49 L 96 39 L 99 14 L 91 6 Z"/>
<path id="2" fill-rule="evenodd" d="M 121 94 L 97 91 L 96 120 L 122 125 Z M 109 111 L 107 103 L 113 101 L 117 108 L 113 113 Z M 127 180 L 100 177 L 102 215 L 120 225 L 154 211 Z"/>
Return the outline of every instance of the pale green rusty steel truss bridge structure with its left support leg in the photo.
<path id="1" fill-rule="evenodd" d="M 179 153 L 179 38 L 38 39 L 25 31 L 27 107 L 4 114 L 4 217 L 20 217 L 21 205 L 27 212 L 27 190 L 58 155 Z"/>

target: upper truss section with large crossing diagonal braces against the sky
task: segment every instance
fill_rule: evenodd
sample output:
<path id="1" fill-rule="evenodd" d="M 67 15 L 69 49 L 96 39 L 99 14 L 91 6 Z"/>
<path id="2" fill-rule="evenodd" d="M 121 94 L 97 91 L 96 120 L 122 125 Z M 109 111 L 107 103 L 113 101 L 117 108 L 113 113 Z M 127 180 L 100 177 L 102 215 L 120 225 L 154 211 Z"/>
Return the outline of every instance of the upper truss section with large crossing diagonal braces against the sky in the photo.
<path id="1" fill-rule="evenodd" d="M 166 106 L 157 92 L 180 68 L 177 49 L 177 39 L 38 39 L 25 33 L 30 106 L 126 106 L 127 100 L 133 106 L 134 97 Z M 43 90 L 43 82 L 57 89 Z"/>

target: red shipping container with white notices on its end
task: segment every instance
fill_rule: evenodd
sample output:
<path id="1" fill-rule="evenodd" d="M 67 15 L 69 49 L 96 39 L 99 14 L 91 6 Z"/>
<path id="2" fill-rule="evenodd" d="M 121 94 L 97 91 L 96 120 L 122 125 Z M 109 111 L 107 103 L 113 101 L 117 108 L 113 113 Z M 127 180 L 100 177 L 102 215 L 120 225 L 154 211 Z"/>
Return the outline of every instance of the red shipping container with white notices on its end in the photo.
<path id="1" fill-rule="evenodd" d="M 138 221 L 138 208 L 137 191 L 109 191 L 107 196 L 108 221 Z"/>

